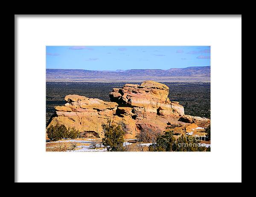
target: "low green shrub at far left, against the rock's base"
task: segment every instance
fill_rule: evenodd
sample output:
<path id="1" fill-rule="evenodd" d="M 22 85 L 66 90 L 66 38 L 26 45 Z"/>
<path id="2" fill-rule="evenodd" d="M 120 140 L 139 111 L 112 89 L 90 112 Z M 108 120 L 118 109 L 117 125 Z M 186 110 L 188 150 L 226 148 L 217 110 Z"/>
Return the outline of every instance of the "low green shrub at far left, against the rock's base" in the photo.
<path id="1" fill-rule="evenodd" d="M 75 127 L 67 129 L 67 127 L 65 127 L 65 125 L 59 125 L 58 123 L 55 126 L 51 125 L 47 129 L 46 133 L 47 133 L 48 138 L 52 139 L 54 141 L 62 139 L 62 138 L 75 139 L 75 138 L 79 137 L 79 131 L 76 130 Z"/>

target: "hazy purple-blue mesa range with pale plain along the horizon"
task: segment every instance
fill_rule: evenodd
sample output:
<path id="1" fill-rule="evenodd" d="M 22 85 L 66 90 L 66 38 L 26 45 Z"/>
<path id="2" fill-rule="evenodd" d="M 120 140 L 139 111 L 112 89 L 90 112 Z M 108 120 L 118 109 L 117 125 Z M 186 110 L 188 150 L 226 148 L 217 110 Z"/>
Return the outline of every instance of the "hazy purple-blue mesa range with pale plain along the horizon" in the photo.
<path id="1" fill-rule="evenodd" d="M 46 69 L 47 81 L 140 81 L 140 79 L 159 80 L 177 77 L 197 79 L 209 78 L 210 66 L 171 68 L 169 70 L 131 69 L 116 71 L 82 69 Z"/>

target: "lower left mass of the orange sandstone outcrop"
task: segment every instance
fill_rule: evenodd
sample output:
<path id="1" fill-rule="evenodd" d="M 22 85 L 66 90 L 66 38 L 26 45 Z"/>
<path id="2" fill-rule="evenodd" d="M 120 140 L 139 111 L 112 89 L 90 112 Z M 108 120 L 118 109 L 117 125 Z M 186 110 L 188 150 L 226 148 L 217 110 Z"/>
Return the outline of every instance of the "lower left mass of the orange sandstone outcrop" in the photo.
<path id="1" fill-rule="evenodd" d="M 117 103 L 105 102 L 100 99 L 89 99 L 85 96 L 67 95 L 65 106 L 55 107 L 55 116 L 48 125 L 64 124 L 75 127 L 80 132 L 98 133 L 102 137 L 102 124 L 109 118 L 116 118 Z M 121 118 L 119 118 L 121 119 Z M 97 135 L 96 135 L 97 136 Z"/>

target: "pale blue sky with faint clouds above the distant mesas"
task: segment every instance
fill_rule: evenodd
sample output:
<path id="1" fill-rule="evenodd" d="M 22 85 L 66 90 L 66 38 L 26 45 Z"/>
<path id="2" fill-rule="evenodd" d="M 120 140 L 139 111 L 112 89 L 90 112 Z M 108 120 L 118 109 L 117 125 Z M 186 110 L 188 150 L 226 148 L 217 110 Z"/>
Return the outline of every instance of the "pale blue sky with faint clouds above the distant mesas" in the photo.
<path id="1" fill-rule="evenodd" d="M 210 66 L 210 46 L 47 46 L 46 67 L 128 70 Z"/>

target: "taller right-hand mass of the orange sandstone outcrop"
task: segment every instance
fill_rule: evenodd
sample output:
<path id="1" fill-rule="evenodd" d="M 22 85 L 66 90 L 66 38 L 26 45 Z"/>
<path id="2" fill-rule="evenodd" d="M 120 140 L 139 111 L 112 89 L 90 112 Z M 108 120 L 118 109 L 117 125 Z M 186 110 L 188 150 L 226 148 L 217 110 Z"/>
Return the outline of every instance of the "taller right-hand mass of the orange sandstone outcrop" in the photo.
<path id="1" fill-rule="evenodd" d="M 157 115 L 183 116 L 184 108 L 178 102 L 168 98 L 169 87 L 155 81 L 144 81 L 142 84 L 125 84 L 118 89 L 113 88 L 109 94 L 111 101 L 133 108 L 134 118 L 152 119 Z"/>

